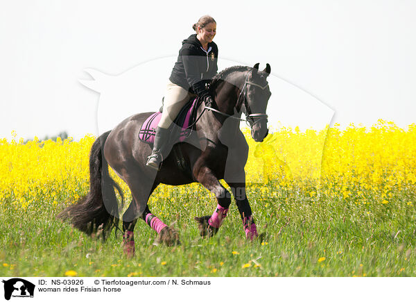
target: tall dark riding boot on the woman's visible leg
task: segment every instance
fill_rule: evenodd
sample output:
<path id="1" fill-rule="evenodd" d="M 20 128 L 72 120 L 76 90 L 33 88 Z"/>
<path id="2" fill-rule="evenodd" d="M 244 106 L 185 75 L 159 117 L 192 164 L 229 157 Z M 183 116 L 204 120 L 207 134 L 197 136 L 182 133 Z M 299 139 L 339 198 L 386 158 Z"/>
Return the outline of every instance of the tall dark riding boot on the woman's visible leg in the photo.
<path id="1" fill-rule="evenodd" d="M 159 171 L 162 161 L 168 156 L 168 152 L 170 151 L 170 133 L 170 129 L 156 127 L 153 151 L 148 157 L 146 166 Z"/>

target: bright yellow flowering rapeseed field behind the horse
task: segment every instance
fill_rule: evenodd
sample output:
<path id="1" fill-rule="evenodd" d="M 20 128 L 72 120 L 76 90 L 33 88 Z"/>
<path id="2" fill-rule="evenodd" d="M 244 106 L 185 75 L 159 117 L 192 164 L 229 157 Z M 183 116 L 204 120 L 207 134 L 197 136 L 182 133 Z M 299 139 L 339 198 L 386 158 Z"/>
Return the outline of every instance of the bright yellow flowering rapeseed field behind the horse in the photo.
<path id="1" fill-rule="evenodd" d="M 379 120 L 371 128 L 339 125 L 322 131 L 280 128 L 256 143 L 244 131 L 250 154 L 247 182 L 269 183 L 264 190 L 303 190 L 311 197 L 363 200 L 371 194 L 386 204 L 397 192 L 415 192 L 416 125 L 407 129 Z M 71 202 L 89 186 L 89 149 L 95 140 L 86 135 L 57 142 L 0 140 L 0 202 L 28 208 L 33 201 L 58 205 L 59 196 Z M 112 174 L 114 178 L 114 173 Z M 127 195 L 128 187 L 121 181 Z M 197 184 L 180 190 L 195 190 Z M 156 194 L 167 194 L 157 190 Z M 62 194 L 64 193 L 64 194 Z M 274 192 L 263 192 L 275 194 Z M 157 200 L 157 196 L 156 200 Z"/>

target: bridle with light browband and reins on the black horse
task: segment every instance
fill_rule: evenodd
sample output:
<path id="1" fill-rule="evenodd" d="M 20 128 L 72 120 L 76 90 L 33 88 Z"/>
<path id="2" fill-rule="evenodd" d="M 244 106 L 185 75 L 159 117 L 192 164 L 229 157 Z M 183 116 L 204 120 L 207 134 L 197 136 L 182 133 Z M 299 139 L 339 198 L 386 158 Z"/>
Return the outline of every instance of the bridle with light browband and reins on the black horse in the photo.
<path id="1" fill-rule="evenodd" d="M 248 97 L 247 97 L 247 86 L 248 85 L 254 85 L 256 87 L 259 87 L 261 90 L 265 90 L 268 87 L 268 84 L 261 86 L 257 83 L 253 83 L 248 81 L 248 76 L 250 76 L 250 74 L 252 73 L 252 70 L 250 70 L 250 72 L 247 73 L 247 76 L 245 76 L 245 81 L 243 84 L 243 87 L 241 88 L 241 92 L 239 94 L 239 97 L 237 99 L 237 105 L 239 103 L 241 103 L 241 98 L 243 98 L 243 105 L 244 105 L 244 115 L 246 119 L 241 119 L 240 117 L 235 117 L 234 115 L 227 115 L 227 113 L 221 112 L 219 110 L 216 110 L 214 108 L 211 107 L 207 107 L 205 106 L 205 109 L 207 110 L 211 110 L 214 112 L 219 113 L 220 115 L 224 115 L 226 117 L 230 117 L 232 119 L 238 119 L 239 121 L 245 121 L 246 123 L 248 123 L 248 126 L 250 126 L 250 128 L 252 128 L 255 124 L 259 123 L 259 121 L 262 121 L 264 119 L 266 119 L 266 122 L 268 121 L 268 115 L 266 115 L 266 113 L 252 113 L 250 106 L 248 105 Z M 255 120 L 257 119 L 257 120 Z"/>

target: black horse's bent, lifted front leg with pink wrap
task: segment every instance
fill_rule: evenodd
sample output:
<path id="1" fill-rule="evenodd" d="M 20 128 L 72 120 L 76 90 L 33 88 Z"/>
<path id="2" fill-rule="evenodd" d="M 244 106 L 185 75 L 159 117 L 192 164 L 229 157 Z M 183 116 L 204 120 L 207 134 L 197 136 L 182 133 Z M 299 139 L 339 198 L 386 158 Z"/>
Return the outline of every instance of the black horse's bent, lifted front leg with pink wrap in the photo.
<path id="1" fill-rule="evenodd" d="M 211 191 L 218 201 L 216 210 L 211 216 L 195 217 L 195 220 L 198 222 L 200 235 L 202 237 L 207 235 L 213 236 L 218 232 L 225 217 L 227 217 L 231 197 L 228 190 L 220 184 L 218 178 L 216 178 L 214 173 L 212 173 L 211 169 L 208 167 L 198 169 L 198 173 L 195 175 L 197 181 Z"/>

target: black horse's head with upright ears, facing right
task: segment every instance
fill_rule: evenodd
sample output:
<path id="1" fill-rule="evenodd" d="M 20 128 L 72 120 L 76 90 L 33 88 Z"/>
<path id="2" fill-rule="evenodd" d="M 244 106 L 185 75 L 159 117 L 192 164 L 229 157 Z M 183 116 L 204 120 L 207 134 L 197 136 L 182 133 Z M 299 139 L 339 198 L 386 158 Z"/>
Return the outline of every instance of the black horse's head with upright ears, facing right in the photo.
<path id="1" fill-rule="evenodd" d="M 263 142 L 268 135 L 266 108 L 270 92 L 266 78 L 270 65 L 259 72 L 259 63 L 247 74 L 243 87 L 245 115 L 250 124 L 251 135 L 256 142 Z"/>

